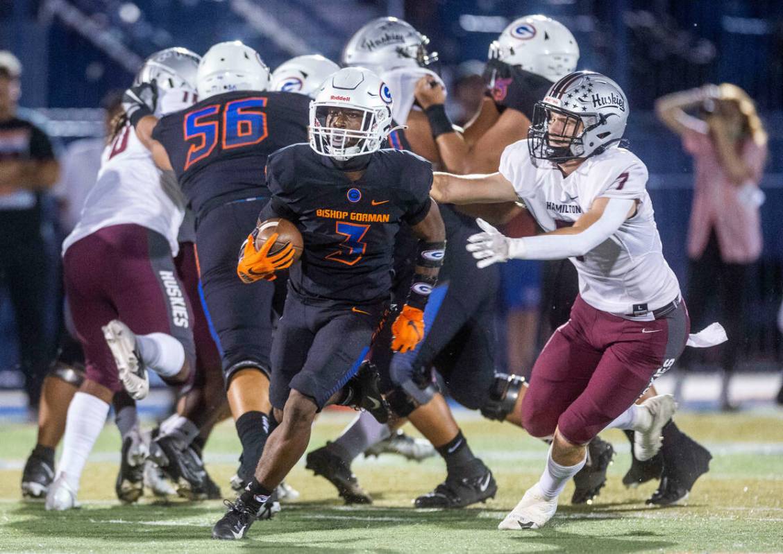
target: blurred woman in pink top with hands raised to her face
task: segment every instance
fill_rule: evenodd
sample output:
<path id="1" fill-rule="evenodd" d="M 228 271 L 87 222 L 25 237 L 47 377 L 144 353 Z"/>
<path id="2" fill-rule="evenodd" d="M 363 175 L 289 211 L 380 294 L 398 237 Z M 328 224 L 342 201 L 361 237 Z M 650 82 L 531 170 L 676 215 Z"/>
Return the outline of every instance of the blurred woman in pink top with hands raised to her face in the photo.
<path id="1" fill-rule="evenodd" d="M 692 109 L 698 117 L 686 113 Z M 749 96 L 728 83 L 663 96 L 655 110 L 694 158 L 685 300 L 694 329 L 707 323 L 709 302 L 718 303 L 719 321 L 729 337 L 721 351 L 720 403 L 724 410 L 732 409 L 728 387 L 743 351 L 749 267 L 761 254 L 759 182 L 767 159 L 767 134 Z M 684 366 L 690 362 L 690 356 L 684 358 Z"/>

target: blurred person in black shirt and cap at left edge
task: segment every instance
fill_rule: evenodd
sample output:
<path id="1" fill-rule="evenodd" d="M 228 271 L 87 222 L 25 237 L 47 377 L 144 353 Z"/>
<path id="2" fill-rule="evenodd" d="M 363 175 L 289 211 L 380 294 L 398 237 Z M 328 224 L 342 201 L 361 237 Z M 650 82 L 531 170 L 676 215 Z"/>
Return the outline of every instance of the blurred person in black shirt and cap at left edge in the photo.
<path id="1" fill-rule="evenodd" d="M 53 354 L 45 344 L 51 268 L 41 199 L 59 166 L 45 133 L 16 117 L 21 73 L 16 56 L 0 51 L 0 286 L 13 304 L 25 389 L 35 406 Z"/>

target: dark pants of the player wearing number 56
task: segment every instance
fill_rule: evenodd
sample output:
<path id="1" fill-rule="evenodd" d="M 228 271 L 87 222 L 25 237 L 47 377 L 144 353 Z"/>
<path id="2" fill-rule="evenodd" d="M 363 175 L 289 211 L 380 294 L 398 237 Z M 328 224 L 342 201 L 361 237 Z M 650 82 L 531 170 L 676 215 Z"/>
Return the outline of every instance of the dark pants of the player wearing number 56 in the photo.
<path id="1" fill-rule="evenodd" d="M 255 228 L 266 200 L 222 204 L 200 216 L 196 225 L 201 286 L 207 318 L 218 336 L 226 385 L 238 369 L 251 367 L 269 375 L 272 330 L 286 279 L 278 275 L 272 282 L 246 285 L 236 275 L 240 246 Z"/>

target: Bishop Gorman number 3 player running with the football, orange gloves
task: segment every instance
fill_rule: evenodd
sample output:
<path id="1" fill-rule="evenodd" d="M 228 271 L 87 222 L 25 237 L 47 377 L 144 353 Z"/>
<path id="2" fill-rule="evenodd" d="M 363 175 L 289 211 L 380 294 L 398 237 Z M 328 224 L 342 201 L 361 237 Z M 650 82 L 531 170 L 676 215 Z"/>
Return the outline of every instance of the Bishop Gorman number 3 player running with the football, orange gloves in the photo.
<path id="1" fill-rule="evenodd" d="M 419 254 L 405 305 L 391 326 L 391 347 L 410 351 L 424 336 L 424 308 L 438 279 L 446 231 L 429 196 L 431 165 L 410 152 L 381 149 L 389 131 L 388 86 L 370 70 L 345 68 L 310 104 L 310 144 L 269 156 L 272 198 L 259 219 L 293 222 L 305 245 L 301 262 L 291 268 L 272 345 L 269 398 L 280 426 L 269 436 L 251 484 L 215 524 L 215 538 L 243 538 L 305 453 L 316 414 L 330 403 L 359 404 L 355 395 L 370 388 L 345 384 L 359 373 L 388 309 L 394 238 L 403 222 L 419 237 Z M 274 277 L 274 264 L 257 254 L 276 239 L 269 236 L 254 252 L 254 237 L 248 238 L 240 260 L 246 275 Z M 370 400 L 382 401 L 380 394 Z"/>

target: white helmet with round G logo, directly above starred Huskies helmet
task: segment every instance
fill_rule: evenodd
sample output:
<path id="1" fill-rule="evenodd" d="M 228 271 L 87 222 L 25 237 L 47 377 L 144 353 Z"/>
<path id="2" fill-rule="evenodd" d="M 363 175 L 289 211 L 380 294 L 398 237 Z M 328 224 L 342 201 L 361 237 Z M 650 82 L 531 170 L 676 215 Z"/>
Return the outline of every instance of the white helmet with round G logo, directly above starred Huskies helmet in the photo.
<path id="1" fill-rule="evenodd" d="M 571 31 L 547 16 L 525 16 L 511 22 L 489 45 L 489 59 L 557 81 L 576 70 L 579 45 Z"/>

